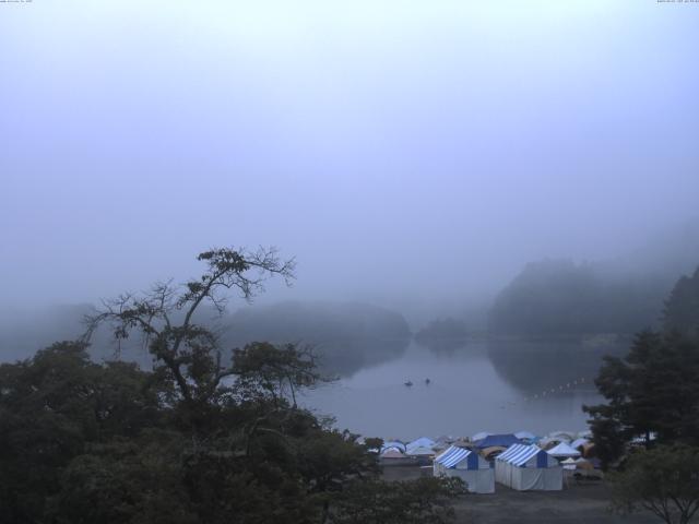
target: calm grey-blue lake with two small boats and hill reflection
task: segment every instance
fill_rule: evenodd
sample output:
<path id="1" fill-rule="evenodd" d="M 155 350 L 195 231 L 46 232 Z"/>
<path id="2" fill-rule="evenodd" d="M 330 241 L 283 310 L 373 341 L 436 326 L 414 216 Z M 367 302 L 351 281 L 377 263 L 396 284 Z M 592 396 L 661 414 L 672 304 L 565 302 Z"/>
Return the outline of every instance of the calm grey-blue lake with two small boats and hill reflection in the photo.
<path id="1" fill-rule="evenodd" d="M 411 342 L 392 360 L 306 393 L 304 403 L 333 415 L 340 429 L 386 439 L 582 431 L 588 427 L 581 406 L 602 401 L 593 379 L 603 355 L 620 355 L 627 346 L 482 341 L 427 348 Z"/>

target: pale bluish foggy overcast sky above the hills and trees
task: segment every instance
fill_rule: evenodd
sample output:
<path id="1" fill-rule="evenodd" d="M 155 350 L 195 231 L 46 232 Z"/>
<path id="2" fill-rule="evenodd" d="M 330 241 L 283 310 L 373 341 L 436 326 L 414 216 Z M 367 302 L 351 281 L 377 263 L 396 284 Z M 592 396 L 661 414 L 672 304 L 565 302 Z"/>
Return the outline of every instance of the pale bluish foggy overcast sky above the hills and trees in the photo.
<path id="1" fill-rule="evenodd" d="M 454 296 L 699 209 L 699 3 L 0 3 L 0 282 L 92 301 L 211 246 L 280 298 Z"/>

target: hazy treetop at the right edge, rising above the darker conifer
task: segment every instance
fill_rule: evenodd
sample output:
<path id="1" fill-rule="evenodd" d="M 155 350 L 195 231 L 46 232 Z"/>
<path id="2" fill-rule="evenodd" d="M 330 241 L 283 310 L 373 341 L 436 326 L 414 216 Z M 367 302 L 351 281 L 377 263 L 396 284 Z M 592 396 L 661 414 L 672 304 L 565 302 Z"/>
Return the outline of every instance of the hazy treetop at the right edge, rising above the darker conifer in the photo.
<path id="1" fill-rule="evenodd" d="M 683 276 L 665 300 L 663 327 L 684 336 L 699 338 L 699 267 Z"/>

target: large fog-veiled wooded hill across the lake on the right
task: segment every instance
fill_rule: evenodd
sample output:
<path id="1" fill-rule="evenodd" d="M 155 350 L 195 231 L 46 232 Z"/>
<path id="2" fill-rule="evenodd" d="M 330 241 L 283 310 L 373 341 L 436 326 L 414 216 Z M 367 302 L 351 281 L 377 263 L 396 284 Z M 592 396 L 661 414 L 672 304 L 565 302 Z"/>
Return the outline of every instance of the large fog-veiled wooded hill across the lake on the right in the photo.
<path id="1" fill-rule="evenodd" d="M 496 297 L 489 329 L 507 335 L 584 335 L 656 327 L 674 283 L 697 265 L 699 221 L 612 260 L 532 262 Z"/>

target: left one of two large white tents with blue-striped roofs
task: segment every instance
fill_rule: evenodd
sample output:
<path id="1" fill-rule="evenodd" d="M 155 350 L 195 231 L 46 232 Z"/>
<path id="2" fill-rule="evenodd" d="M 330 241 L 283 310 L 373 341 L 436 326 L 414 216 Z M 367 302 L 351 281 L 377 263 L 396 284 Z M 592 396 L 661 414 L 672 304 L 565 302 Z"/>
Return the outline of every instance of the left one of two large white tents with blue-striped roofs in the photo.
<path id="1" fill-rule="evenodd" d="M 491 463 L 475 451 L 452 445 L 435 458 L 436 477 L 459 477 L 472 493 L 495 492 L 495 471 Z"/>

